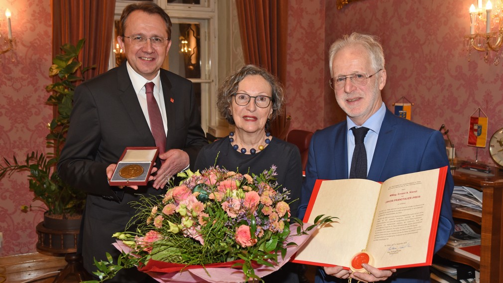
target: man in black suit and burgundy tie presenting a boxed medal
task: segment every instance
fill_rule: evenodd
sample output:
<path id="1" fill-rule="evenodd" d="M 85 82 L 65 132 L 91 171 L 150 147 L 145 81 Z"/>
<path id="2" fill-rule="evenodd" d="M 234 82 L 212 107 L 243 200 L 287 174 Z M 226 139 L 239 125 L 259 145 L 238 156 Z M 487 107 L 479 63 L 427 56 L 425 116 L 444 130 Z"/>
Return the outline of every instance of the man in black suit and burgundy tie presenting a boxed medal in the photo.
<path id="1" fill-rule="evenodd" d="M 138 194 L 162 194 L 171 176 L 193 166 L 207 144 L 189 80 L 161 69 L 171 46 L 171 20 L 152 2 L 127 6 L 121 16 L 118 41 L 127 61 L 75 89 L 74 107 L 66 144 L 58 163 L 61 178 L 88 192 L 83 218 L 82 257 L 88 272 L 94 258 L 114 258 L 112 234 L 124 231 L 135 215 L 129 202 Z M 148 82 L 159 108 L 165 144 L 156 144 L 151 132 Z M 152 105 L 152 104 L 150 104 Z M 153 130 L 152 130 L 153 131 Z M 161 134 L 162 135 L 162 134 Z M 164 139 L 162 138 L 162 141 Z M 156 166 L 147 186 L 115 187 L 108 180 L 126 147 L 159 147 Z M 165 150 L 162 150 L 164 148 Z M 149 280 L 141 272 L 120 272 L 114 281 Z"/>

